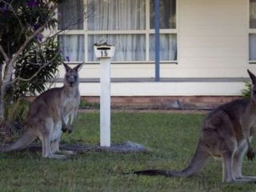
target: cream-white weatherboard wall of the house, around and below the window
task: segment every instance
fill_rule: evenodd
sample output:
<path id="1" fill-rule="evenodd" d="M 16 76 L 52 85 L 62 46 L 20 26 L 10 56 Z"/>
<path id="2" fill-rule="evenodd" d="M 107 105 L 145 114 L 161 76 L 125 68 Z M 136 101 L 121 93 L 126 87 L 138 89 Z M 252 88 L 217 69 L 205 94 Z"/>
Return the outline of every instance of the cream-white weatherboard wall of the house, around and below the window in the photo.
<path id="1" fill-rule="evenodd" d="M 247 78 L 249 0 L 177 0 L 178 64 L 161 63 L 162 78 Z M 99 78 L 99 65 L 81 78 Z M 154 63 L 114 63 L 112 78 L 154 78 Z M 111 95 L 238 95 L 243 82 L 115 82 Z M 82 95 L 99 95 L 99 83 L 82 83 Z"/>

